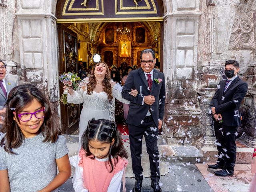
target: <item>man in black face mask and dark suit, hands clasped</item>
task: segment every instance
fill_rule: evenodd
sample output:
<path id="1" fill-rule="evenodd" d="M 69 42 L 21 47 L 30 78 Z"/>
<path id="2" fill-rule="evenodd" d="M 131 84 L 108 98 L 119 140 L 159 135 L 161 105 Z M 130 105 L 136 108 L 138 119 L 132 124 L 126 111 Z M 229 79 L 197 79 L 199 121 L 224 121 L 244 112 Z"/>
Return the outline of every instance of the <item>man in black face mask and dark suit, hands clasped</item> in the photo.
<path id="1" fill-rule="evenodd" d="M 239 64 L 236 60 L 225 62 L 226 80 L 220 81 L 213 97 L 212 115 L 218 149 L 217 164 L 209 168 L 217 176 L 232 176 L 236 162 L 237 128 L 241 126 L 240 104 L 246 95 L 248 85 L 238 77 Z"/>

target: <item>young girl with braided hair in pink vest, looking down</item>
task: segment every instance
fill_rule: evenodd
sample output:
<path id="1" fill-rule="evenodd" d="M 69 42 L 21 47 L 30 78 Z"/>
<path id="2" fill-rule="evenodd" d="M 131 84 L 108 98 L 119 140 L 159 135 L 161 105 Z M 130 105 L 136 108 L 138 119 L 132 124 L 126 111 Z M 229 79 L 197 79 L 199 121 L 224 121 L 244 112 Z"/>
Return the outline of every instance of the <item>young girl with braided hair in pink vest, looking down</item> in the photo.
<path id="1" fill-rule="evenodd" d="M 118 192 L 128 164 L 115 122 L 92 119 L 82 135 L 73 187 L 76 192 Z"/>

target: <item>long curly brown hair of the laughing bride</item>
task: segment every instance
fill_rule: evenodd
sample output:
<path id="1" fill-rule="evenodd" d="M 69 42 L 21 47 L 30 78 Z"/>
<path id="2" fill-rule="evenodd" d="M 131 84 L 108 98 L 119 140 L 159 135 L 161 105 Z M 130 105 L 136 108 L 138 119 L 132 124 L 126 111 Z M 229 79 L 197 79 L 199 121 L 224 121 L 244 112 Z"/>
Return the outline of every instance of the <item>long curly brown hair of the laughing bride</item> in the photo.
<path id="1" fill-rule="evenodd" d="M 89 83 L 87 84 L 87 94 L 88 95 L 91 95 L 93 93 L 93 89 L 96 87 L 97 85 L 97 82 L 96 82 L 96 78 L 94 76 L 94 73 L 95 73 L 95 67 L 98 65 L 98 64 L 105 64 L 106 66 L 106 70 L 107 70 L 107 73 L 105 75 L 105 78 L 104 80 L 102 81 L 102 86 L 103 86 L 103 91 L 108 95 L 108 100 L 112 100 L 113 96 L 112 96 L 112 88 L 111 88 L 111 83 L 110 83 L 110 71 L 108 69 L 108 65 L 104 62 L 104 61 L 99 61 L 92 69 L 92 73 L 89 77 Z"/>

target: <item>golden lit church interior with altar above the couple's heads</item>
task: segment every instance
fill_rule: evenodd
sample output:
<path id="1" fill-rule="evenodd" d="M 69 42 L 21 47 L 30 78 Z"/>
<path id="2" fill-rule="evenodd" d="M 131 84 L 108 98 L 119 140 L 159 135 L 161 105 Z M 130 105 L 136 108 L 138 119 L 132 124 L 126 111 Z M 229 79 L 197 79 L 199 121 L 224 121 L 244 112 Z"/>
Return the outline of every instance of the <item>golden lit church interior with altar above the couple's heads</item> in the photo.
<path id="1" fill-rule="evenodd" d="M 77 33 L 77 60 L 85 68 L 94 65 L 94 54 L 99 54 L 109 68 L 138 68 L 140 52 L 145 48 L 156 52 L 155 67 L 160 68 L 160 22 L 73 23 L 68 28 Z"/>

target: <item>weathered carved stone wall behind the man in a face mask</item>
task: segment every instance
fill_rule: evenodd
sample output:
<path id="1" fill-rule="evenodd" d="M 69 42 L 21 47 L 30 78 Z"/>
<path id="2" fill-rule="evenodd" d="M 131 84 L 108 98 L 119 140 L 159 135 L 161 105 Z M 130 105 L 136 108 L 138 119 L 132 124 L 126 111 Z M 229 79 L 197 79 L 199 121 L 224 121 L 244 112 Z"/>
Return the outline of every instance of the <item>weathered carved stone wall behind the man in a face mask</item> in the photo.
<path id="1" fill-rule="evenodd" d="M 201 2 L 199 26 L 198 76 L 196 91 L 202 110 L 203 145 L 212 146 L 215 136 L 210 108 L 217 84 L 226 78 L 225 61 L 240 63 L 239 76 L 249 89 L 241 111 L 240 139 L 255 144 L 255 4 L 253 0 L 208 0 Z M 254 17 L 253 17 L 254 15 Z"/>

